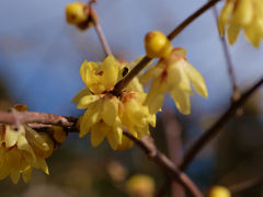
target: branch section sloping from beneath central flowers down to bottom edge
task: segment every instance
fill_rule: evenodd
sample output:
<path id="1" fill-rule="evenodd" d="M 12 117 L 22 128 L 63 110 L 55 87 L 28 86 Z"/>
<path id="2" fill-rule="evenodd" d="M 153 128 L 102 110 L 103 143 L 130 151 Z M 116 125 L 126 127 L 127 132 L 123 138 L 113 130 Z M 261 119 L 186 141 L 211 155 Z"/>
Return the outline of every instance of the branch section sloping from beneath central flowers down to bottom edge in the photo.
<path id="1" fill-rule="evenodd" d="M 160 152 L 149 137 L 144 137 L 142 140 L 135 138 L 130 132 L 124 130 L 124 135 L 132 139 L 150 160 L 155 161 L 160 167 L 165 170 L 172 178 L 176 179 L 187 193 L 192 196 L 203 196 L 195 184 L 174 165 L 174 163 L 168 159 L 162 152 Z"/>

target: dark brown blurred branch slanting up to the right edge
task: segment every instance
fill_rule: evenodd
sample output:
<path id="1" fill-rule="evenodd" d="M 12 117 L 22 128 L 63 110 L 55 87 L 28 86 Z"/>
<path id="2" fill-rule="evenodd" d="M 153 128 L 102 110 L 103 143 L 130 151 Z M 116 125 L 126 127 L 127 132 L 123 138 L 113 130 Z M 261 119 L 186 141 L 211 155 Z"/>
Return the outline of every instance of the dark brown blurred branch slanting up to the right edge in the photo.
<path id="1" fill-rule="evenodd" d="M 193 143 L 192 147 L 186 151 L 183 162 L 180 165 L 180 169 L 184 171 L 197 153 L 220 131 L 220 128 L 225 126 L 229 119 L 236 114 L 237 109 L 244 104 L 244 102 L 251 96 L 253 92 L 256 91 L 263 83 L 263 78 L 261 78 L 252 88 L 245 91 L 239 100 L 231 103 L 226 113 L 208 129 L 206 130 L 198 139 Z"/>

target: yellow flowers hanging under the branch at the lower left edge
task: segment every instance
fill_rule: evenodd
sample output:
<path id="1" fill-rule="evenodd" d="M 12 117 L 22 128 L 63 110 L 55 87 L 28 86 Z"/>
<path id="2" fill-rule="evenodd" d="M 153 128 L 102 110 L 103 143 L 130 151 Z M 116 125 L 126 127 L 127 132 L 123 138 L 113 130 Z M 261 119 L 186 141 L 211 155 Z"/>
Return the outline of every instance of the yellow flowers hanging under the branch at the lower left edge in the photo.
<path id="1" fill-rule="evenodd" d="M 45 158 L 53 152 L 53 141 L 37 134 L 27 125 L 14 130 L 9 125 L 0 125 L 0 179 L 10 175 L 16 184 L 22 177 L 31 178 L 32 167 L 42 169 L 48 174 Z"/>

